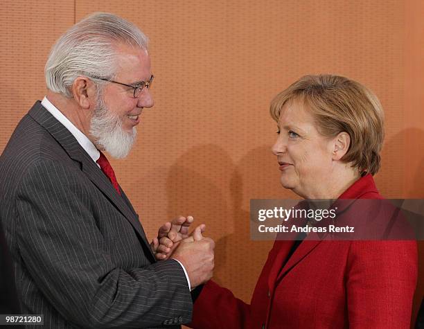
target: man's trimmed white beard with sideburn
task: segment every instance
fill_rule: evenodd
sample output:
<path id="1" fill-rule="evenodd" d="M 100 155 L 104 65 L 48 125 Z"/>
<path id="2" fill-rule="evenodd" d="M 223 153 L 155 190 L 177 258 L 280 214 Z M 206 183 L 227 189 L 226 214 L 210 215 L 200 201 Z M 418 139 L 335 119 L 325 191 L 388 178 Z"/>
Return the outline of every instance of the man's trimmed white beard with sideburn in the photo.
<path id="1" fill-rule="evenodd" d="M 136 127 L 125 132 L 121 118 L 107 108 L 102 95 L 98 95 L 96 103 L 90 123 L 90 134 L 96 139 L 96 146 L 116 159 L 127 157 L 136 139 Z"/>

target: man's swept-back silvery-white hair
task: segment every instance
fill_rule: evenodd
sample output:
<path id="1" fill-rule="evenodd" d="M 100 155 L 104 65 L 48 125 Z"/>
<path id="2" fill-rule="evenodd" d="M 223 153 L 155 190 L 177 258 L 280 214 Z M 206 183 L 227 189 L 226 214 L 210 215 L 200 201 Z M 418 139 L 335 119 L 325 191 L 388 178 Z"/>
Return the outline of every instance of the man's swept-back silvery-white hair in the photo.
<path id="1" fill-rule="evenodd" d="M 47 88 L 71 98 L 70 87 L 80 75 L 113 79 L 117 44 L 147 50 L 148 37 L 134 24 L 107 12 L 85 17 L 69 28 L 51 49 L 44 68 Z"/>

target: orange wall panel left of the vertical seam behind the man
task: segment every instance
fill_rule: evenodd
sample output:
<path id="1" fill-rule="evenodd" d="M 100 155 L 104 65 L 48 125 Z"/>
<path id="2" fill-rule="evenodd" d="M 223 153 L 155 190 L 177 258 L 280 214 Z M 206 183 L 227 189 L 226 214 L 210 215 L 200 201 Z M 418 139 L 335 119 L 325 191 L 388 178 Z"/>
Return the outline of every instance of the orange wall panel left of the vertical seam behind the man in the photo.
<path id="1" fill-rule="evenodd" d="M 4 0 L 0 10 L 0 151 L 20 118 L 46 91 L 44 64 L 73 24 L 73 1 Z"/>

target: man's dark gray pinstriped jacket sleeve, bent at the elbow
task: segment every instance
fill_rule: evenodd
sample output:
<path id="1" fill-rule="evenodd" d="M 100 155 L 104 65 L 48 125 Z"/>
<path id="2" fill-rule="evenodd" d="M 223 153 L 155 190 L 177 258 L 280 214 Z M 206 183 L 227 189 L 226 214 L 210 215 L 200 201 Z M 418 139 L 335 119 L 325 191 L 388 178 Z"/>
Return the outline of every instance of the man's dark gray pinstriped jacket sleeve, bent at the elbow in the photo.
<path id="1" fill-rule="evenodd" d="M 19 251 L 46 299 L 85 328 L 190 321 L 193 302 L 182 267 L 165 260 L 120 268 L 88 199 L 75 173 L 56 161 L 39 161 L 21 178 L 15 203 Z"/>

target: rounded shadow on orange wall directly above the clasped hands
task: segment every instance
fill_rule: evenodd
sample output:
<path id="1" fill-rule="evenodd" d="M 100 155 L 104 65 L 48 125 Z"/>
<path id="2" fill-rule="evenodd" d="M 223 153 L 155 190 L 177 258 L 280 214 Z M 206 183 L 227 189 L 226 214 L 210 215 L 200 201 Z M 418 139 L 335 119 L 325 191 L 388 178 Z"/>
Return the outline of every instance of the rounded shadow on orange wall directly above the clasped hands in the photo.
<path id="1" fill-rule="evenodd" d="M 222 148 L 198 145 L 177 159 L 166 181 L 168 217 L 177 213 L 193 215 L 194 226 L 205 223 L 204 235 L 217 242 L 215 276 L 227 264 L 227 246 L 216 238 L 234 231 L 227 189 L 232 168 L 231 158 Z"/>

